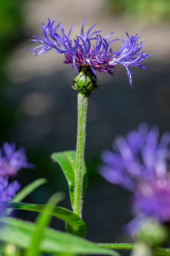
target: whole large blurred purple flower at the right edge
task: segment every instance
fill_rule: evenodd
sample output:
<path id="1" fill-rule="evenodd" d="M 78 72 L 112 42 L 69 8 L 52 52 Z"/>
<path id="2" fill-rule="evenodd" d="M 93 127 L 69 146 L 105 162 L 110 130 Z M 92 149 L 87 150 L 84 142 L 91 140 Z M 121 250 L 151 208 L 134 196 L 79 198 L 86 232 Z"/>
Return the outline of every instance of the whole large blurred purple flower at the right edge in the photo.
<path id="1" fill-rule="evenodd" d="M 136 234 L 150 218 L 160 223 L 170 221 L 170 133 L 158 139 L 157 127 L 148 129 L 140 124 L 138 130 L 116 138 L 113 149 L 104 151 L 101 175 L 111 183 L 130 190 L 135 219 L 128 231 Z"/>

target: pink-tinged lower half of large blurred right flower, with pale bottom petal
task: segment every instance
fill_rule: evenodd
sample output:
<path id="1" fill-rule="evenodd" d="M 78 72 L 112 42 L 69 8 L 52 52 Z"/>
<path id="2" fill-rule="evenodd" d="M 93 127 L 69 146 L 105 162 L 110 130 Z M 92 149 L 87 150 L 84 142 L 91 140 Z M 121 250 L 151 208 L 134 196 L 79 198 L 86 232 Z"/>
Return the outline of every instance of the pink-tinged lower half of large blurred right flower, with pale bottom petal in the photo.
<path id="1" fill-rule="evenodd" d="M 170 222 L 170 173 L 152 180 L 141 180 L 132 195 L 135 218 L 127 225 L 127 231 L 135 236 L 153 220 L 163 224 Z"/>

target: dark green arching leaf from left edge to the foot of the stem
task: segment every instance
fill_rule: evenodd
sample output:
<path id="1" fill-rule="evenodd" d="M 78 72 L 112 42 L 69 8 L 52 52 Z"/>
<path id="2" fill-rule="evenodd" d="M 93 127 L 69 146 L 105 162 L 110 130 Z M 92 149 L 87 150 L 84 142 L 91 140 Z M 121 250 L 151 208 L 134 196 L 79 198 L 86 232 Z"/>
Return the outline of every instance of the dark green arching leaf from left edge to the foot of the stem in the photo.
<path id="1" fill-rule="evenodd" d="M 18 203 L 18 202 L 6 202 L 1 201 L 3 208 L 11 208 L 11 209 L 20 209 L 20 210 L 27 210 L 33 212 L 44 212 L 45 204 L 25 204 L 25 203 Z M 48 207 L 48 206 L 47 206 Z M 50 207 L 50 206 L 49 206 Z M 85 237 L 86 235 L 86 224 L 81 220 L 81 218 L 67 210 L 65 208 L 54 206 L 53 211 L 50 213 L 52 216 L 57 217 L 60 220 L 64 220 L 67 223 L 67 232 L 71 233 L 76 236 Z"/>

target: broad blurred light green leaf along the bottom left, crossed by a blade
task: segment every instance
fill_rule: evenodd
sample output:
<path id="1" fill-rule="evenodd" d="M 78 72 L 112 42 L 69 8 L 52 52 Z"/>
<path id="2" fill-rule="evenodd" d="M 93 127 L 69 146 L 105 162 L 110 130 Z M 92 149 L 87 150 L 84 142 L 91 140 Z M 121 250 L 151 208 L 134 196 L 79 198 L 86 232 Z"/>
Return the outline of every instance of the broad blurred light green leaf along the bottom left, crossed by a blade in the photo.
<path id="1" fill-rule="evenodd" d="M 35 224 L 27 221 L 21 221 L 14 218 L 0 219 L 0 239 L 7 243 L 27 249 Z M 51 228 L 44 229 L 44 237 L 40 244 L 40 252 L 46 253 L 70 253 L 73 255 L 80 254 L 102 254 L 118 256 L 119 253 L 98 247 L 95 243 L 89 242 L 83 238 L 63 233 Z"/>

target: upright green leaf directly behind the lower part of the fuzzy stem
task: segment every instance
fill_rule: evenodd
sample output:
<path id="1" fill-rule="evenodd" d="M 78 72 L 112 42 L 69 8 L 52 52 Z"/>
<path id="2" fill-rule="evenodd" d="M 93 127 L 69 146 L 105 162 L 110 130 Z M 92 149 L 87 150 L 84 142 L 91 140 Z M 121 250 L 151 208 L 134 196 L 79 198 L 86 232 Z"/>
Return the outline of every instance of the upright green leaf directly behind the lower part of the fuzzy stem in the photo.
<path id="1" fill-rule="evenodd" d="M 60 165 L 62 171 L 64 172 L 64 175 L 68 182 L 70 201 L 73 209 L 76 151 L 69 150 L 69 151 L 53 153 L 51 155 L 51 158 Z M 87 171 L 86 171 L 86 165 L 84 164 L 83 195 L 86 191 L 86 188 L 87 188 Z"/>

